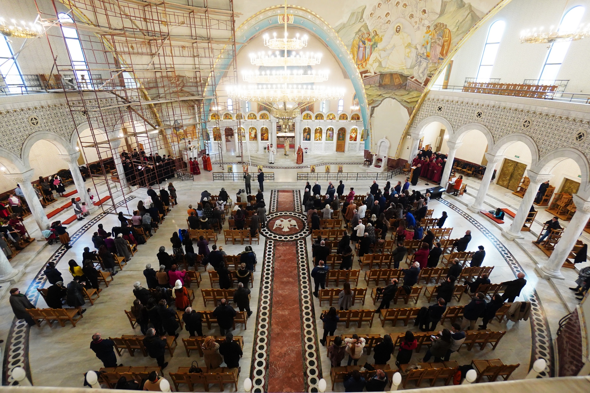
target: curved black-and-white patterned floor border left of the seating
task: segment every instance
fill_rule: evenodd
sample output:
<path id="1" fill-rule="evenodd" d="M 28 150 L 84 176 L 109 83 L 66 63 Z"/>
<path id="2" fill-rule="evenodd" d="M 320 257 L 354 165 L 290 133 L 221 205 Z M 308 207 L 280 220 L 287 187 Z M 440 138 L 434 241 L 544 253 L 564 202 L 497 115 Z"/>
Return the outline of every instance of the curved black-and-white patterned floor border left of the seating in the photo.
<path id="1" fill-rule="evenodd" d="M 128 196 L 125 198 L 125 202 L 129 202 L 132 199 L 135 199 L 135 196 Z M 119 206 L 120 204 L 117 204 Z M 86 233 L 90 228 L 97 224 L 100 220 L 106 217 L 110 212 L 114 210 L 114 207 L 106 209 L 104 212 L 101 212 L 96 217 L 92 218 L 90 221 L 84 223 L 83 227 L 79 230 L 74 232 L 73 235 L 70 236 L 70 245 L 76 243 L 76 241 Z M 67 252 L 67 248 L 64 245 L 60 245 L 55 253 L 47 260 L 46 263 L 43 264 L 41 270 L 38 271 L 35 278 L 32 280 L 30 286 L 25 292 L 25 296 L 29 299 L 29 301 L 37 305 L 37 301 L 39 299 L 40 293 L 38 292 L 38 288 L 42 288 L 45 286 L 47 282 L 47 277 L 43 271 L 45 270 L 45 266 L 47 263 L 53 262 L 55 266 L 61 261 L 64 257 L 65 253 Z M 5 345 L 5 353 L 4 353 L 4 360 L 2 362 L 2 385 L 18 385 L 18 382 L 12 378 L 12 369 L 15 367 L 22 367 L 27 372 L 27 378 L 32 381 L 31 376 L 31 369 L 29 364 L 29 334 L 30 334 L 31 327 L 28 326 L 27 322 L 24 319 L 17 319 L 14 317 L 12 320 L 12 325 L 8 332 L 8 338 L 6 339 Z"/>

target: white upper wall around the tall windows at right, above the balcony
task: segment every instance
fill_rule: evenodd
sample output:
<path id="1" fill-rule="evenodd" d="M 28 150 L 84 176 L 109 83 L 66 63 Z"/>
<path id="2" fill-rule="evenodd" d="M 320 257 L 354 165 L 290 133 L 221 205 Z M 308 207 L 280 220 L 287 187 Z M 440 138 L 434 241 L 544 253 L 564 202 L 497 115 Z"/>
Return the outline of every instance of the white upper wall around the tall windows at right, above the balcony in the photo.
<path id="1" fill-rule="evenodd" d="M 547 55 L 547 44 L 521 44 L 522 30 L 557 27 L 564 9 L 576 5 L 585 7 L 582 24 L 590 22 L 590 0 L 512 0 L 496 15 L 482 25 L 453 57 L 453 69 L 449 84 L 463 86 L 465 78 L 477 76 L 490 25 L 501 19 L 506 22 L 504 34 L 491 72 L 491 78 L 501 78 L 504 83 L 523 83 L 525 79 L 537 79 Z M 566 91 L 581 93 L 590 91 L 590 79 L 586 77 L 590 61 L 590 40 L 573 41 L 566 54 L 558 79 L 569 79 Z"/>

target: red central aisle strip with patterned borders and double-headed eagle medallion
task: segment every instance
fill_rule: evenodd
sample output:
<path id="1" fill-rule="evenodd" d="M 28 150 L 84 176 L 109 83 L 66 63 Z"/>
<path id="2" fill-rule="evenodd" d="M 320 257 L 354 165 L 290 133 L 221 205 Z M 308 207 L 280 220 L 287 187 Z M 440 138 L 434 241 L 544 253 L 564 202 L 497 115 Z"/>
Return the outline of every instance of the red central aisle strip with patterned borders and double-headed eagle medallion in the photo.
<path id="1" fill-rule="evenodd" d="M 271 191 L 251 369 L 254 393 L 316 391 L 321 376 L 299 191 Z"/>

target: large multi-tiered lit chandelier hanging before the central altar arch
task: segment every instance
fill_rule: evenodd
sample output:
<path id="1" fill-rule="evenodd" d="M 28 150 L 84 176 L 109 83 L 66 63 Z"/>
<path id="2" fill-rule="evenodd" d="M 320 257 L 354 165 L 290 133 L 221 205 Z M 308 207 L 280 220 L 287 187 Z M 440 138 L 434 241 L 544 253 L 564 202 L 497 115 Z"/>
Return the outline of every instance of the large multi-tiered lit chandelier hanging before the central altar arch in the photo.
<path id="1" fill-rule="evenodd" d="M 293 53 L 307 46 L 307 35 L 287 38 L 287 2 L 284 15 L 279 21 L 284 22 L 284 38 L 270 38 L 264 35 L 264 45 L 274 51 L 260 52 L 250 55 L 250 62 L 258 67 L 283 67 L 281 71 L 247 71 L 242 73 L 248 86 L 230 86 L 227 90 L 232 99 L 254 101 L 270 109 L 271 115 L 283 126 L 293 124 L 293 119 L 300 116 L 300 109 L 323 100 L 337 100 L 344 96 L 344 90 L 312 86 L 328 79 L 327 71 L 310 70 L 322 60 L 320 53 Z M 291 51 L 288 54 L 287 51 Z M 282 56 L 281 56 L 282 54 Z M 304 70 L 292 71 L 287 67 L 303 67 Z M 254 85 L 255 84 L 255 85 Z M 293 104 L 294 103 L 294 104 Z"/>

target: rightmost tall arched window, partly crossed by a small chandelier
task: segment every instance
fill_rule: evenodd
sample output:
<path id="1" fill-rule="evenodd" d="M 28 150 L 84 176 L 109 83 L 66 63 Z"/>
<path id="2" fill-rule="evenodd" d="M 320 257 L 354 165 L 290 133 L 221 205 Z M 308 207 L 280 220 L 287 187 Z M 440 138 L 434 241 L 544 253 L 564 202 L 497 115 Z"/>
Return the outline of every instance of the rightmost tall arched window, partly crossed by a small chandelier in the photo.
<path id="1" fill-rule="evenodd" d="M 580 24 L 582 15 L 584 15 L 583 6 L 578 5 L 570 9 L 565 15 L 563 15 L 561 23 L 559 24 L 558 32 L 566 33 L 575 31 Z M 545 64 L 543 64 L 543 68 L 541 68 L 541 73 L 539 74 L 540 80 L 553 83 L 553 81 L 557 79 L 559 68 L 563 63 L 565 55 L 568 53 L 569 44 L 571 44 L 571 42 L 572 41 L 553 42 L 549 46 L 547 57 L 545 58 Z"/>

